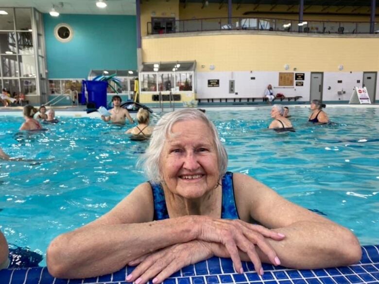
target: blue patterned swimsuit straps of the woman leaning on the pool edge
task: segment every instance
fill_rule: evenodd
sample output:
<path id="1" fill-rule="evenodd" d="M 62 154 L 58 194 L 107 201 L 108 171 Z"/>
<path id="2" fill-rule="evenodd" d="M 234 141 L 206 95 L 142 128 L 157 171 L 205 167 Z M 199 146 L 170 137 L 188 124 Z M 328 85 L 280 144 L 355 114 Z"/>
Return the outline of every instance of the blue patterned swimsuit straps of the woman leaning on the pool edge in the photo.
<path id="1" fill-rule="evenodd" d="M 154 197 L 154 220 L 168 219 L 169 213 L 167 211 L 165 194 L 161 184 L 154 184 L 149 182 L 153 190 Z M 233 173 L 228 171 L 225 173 L 222 179 L 223 186 L 223 201 L 221 209 L 222 219 L 239 219 L 236 207 L 236 201 L 234 199 L 233 188 Z"/>

